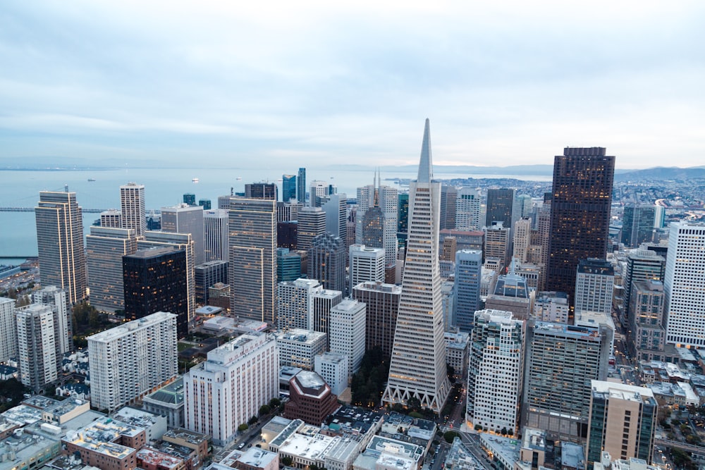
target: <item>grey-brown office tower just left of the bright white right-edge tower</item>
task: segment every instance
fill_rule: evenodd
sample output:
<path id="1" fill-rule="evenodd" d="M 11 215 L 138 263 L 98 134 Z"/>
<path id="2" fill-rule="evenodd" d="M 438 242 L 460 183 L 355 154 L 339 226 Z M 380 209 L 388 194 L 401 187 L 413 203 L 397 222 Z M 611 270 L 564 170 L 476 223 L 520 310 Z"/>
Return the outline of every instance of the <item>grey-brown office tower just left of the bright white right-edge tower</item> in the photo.
<path id="1" fill-rule="evenodd" d="M 630 311 L 634 315 L 630 321 L 630 351 L 639 361 L 662 361 L 666 345 L 663 283 L 660 280 L 637 280 L 632 283 L 632 289 Z"/>

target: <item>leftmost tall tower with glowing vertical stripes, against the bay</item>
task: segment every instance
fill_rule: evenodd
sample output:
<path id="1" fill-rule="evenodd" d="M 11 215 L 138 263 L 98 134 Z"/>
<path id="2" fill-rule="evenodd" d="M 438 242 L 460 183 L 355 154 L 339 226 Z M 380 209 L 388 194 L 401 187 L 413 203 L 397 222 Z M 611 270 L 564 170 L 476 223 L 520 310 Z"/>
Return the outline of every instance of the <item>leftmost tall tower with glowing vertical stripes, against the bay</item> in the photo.
<path id="1" fill-rule="evenodd" d="M 75 192 L 39 192 L 35 207 L 42 284 L 68 292 L 75 304 L 86 295 L 83 218 Z"/>

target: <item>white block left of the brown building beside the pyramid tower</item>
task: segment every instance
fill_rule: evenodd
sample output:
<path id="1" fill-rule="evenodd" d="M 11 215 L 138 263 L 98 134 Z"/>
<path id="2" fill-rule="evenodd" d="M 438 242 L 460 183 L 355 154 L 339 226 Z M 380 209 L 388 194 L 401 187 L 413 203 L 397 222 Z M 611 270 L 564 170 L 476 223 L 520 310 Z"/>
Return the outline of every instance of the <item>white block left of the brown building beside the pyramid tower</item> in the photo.
<path id="1" fill-rule="evenodd" d="M 366 306 L 355 299 L 344 299 L 331 309 L 330 350 L 348 357 L 350 376 L 360 369 L 364 356 Z"/>

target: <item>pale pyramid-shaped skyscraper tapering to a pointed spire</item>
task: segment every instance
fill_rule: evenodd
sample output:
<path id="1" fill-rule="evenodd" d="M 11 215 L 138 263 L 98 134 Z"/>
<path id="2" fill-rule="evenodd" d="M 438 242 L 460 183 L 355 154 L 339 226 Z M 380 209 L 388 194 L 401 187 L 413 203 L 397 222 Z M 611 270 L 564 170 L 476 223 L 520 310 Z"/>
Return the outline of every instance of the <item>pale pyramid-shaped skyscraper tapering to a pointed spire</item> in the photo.
<path id="1" fill-rule="evenodd" d="M 422 407 L 440 412 L 448 398 L 450 382 L 446 375 L 438 259 L 441 183 L 433 182 L 428 119 L 418 179 L 410 183 L 409 194 L 406 263 L 389 378 L 382 401 L 409 404 L 415 399 Z"/>

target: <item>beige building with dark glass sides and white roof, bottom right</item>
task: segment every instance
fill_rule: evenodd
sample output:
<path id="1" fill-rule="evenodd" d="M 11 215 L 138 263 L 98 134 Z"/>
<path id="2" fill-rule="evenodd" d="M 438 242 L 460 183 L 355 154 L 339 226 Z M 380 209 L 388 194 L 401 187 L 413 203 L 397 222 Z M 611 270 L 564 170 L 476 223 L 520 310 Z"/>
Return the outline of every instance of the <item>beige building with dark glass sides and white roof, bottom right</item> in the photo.
<path id="1" fill-rule="evenodd" d="M 658 403 L 648 388 L 592 381 L 587 462 L 635 457 L 645 462 L 654 454 Z"/>

